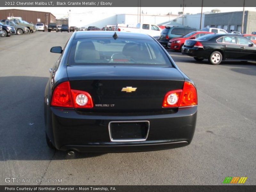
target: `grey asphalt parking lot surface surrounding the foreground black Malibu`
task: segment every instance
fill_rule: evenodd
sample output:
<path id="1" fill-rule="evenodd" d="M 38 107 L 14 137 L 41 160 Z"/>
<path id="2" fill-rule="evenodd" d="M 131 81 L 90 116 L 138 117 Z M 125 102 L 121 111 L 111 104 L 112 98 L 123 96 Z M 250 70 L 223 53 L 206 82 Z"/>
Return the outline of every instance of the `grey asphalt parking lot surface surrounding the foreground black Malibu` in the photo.
<path id="1" fill-rule="evenodd" d="M 256 184 L 255 62 L 214 66 L 168 51 L 198 92 L 196 132 L 187 147 L 73 156 L 49 149 L 44 89 L 60 56 L 50 48 L 64 47 L 71 34 L 0 38 L 0 185 L 221 185 L 227 176 Z M 7 177 L 62 182 L 6 183 Z"/>

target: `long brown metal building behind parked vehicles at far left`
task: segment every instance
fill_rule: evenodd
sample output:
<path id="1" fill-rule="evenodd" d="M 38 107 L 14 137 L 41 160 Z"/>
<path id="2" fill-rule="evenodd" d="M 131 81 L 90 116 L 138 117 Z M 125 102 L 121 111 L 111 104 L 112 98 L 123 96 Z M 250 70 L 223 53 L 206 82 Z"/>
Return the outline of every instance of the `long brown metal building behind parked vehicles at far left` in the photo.
<path id="1" fill-rule="evenodd" d="M 11 19 L 13 17 L 21 17 L 22 20 L 33 24 L 44 23 L 44 25 L 48 25 L 49 23 L 56 22 L 56 17 L 50 12 L 39 12 L 20 9 L 0 10 L 0 20 Z"/>

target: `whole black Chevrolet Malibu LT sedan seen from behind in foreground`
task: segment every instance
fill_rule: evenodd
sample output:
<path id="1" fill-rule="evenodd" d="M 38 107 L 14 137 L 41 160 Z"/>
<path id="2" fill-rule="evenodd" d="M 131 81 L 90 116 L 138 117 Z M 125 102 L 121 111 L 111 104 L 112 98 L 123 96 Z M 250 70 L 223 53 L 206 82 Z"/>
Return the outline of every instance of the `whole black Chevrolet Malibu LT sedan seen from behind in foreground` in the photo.
<path id="1" fill-rule="evenodd" d="M 75 32 L 44 94 L 49 147 L 79 152 L 147 151 L 190 144 L 194 83 L 151 36 Z"/>

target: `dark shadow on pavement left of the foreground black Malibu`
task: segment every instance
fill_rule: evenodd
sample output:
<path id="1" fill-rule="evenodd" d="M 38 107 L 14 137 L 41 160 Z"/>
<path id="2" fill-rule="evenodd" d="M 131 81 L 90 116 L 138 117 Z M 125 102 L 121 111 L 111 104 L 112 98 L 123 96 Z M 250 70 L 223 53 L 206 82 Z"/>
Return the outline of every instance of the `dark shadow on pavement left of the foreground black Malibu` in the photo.
<path id="1" fill-rule="evenodd" d="M 48 148 L 44 128 L 47 77 L 0 77 L 0 161 L 90 158 L 103 153 L 75 153 Z"/>

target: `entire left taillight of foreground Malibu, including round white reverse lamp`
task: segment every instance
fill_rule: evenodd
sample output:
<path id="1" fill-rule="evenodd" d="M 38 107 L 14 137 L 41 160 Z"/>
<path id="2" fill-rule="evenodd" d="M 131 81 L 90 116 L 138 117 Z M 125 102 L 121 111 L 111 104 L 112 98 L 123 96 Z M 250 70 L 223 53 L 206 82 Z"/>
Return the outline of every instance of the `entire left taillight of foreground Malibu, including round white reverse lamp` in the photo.
<path id="1" fill-rule="evenodd" d="M 89 93 L 70 89 L 69 82 L 60 83 L 53 91 L 51 105 L 65 108 L 92 108 Z"/>

